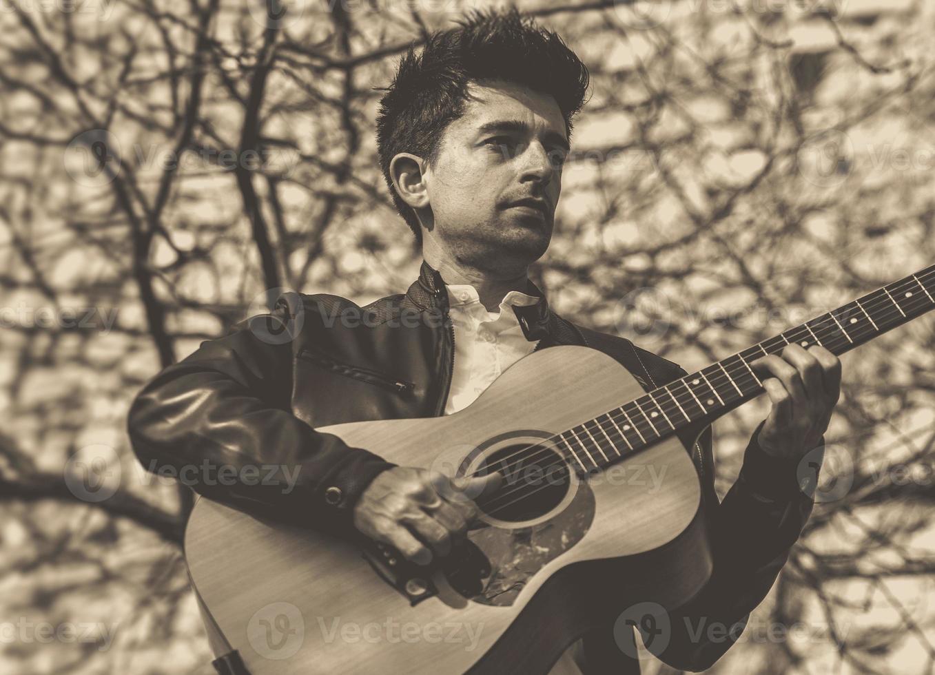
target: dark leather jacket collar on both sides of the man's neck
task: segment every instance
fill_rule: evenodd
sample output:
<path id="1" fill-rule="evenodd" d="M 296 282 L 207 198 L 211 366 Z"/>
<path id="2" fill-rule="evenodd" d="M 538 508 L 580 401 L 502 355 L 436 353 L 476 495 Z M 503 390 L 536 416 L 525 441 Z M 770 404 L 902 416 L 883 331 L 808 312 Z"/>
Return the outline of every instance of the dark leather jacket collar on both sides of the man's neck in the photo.
<path id="1" fill-rule="evenodd" d="M 539 286 L 527 280 L 525 293 L 537 297 L 538 302 L 525 307 L 514 306 L 512 309 L 527 340 L 545 339 L 555 344 L 583 343 L 581 333 L 572 330 L 571 323 L 549 309 L 549 302 L 545 294 L 539 290 Z M 422 262 L 419 270 L 419 279 L 410 286 L 407 296 L 423 309 L 439 309 L 446 315 L 448 313 L 445 281 L 441 278 L 439 271 L 425 261 Z"/>

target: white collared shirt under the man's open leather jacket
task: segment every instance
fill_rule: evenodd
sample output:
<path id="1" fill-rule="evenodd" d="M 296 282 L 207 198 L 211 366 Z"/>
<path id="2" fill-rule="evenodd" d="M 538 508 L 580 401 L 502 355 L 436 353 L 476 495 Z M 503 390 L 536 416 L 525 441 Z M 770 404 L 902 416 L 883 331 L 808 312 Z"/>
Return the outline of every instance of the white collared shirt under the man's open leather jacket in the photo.
<path id="1" fill-rule="evenodd" d="M 525 338 L 512 310 L 535 305 L 539 298 L 511 291 L 498 312 L 487 311 L 470 284 L 446 285 L 454 325 L 454 372 L 445 414 L 467 408 L 500 374 L 536 349 L 539 340 Z"/>

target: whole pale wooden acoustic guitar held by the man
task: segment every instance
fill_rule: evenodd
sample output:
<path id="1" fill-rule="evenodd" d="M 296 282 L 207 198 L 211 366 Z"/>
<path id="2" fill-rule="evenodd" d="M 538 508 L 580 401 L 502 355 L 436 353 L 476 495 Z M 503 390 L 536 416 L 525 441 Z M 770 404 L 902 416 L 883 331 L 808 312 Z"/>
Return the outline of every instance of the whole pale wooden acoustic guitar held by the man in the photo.
<path id="1" fill-rule="evenodd" d="M 212 649 L 254 675 L 548 672 L 625 607 L 675 608 L 710 577 L 685 441 L 763 393 L 752 362 L 794 342 L 848 352 L 933 296 L 929 266 L 648 392 L 610 356 L 558 346 L 452 415 L 322 427 L 400 466 L 504 481 L 426 567 L 199 498 L 185 557 Z"/>

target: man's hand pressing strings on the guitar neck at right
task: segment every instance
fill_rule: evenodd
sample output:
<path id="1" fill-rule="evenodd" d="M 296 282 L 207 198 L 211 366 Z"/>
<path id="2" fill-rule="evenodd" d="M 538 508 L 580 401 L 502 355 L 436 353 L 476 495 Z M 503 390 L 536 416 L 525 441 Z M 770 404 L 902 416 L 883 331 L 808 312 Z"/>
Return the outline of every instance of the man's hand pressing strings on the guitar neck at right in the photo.
<path id="1" fill-rule="evenodd" d="M 841 395 L 841 360 L 824 347 L 790 344 L 782 358 L 764 356 L 751 364 L 770 395 L 772 409 L 756 438 L 777 457 L 801 456 L 821 440 Z"/>

